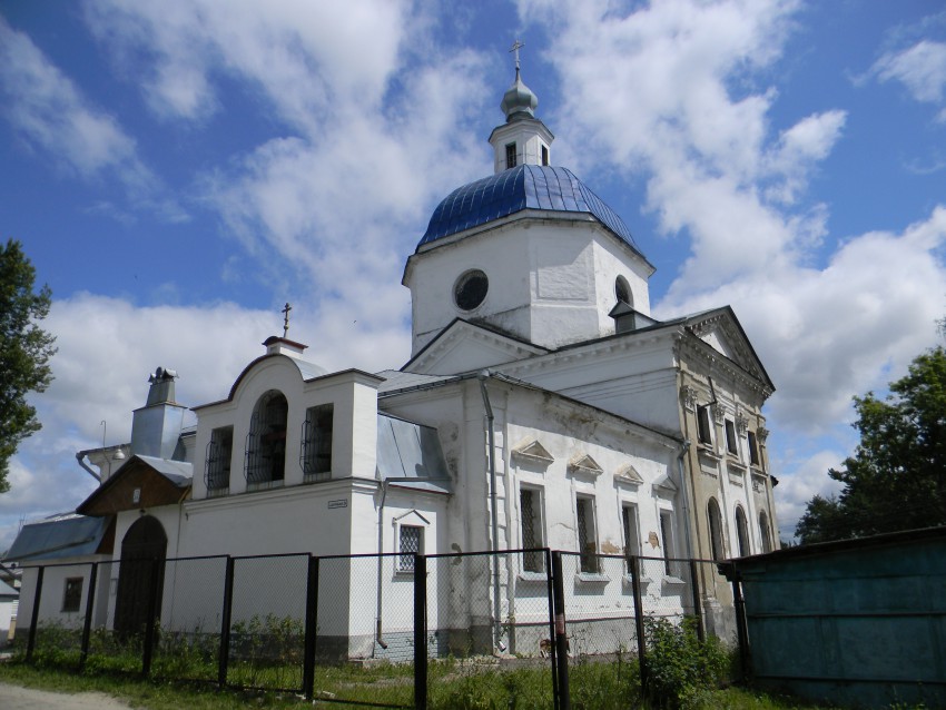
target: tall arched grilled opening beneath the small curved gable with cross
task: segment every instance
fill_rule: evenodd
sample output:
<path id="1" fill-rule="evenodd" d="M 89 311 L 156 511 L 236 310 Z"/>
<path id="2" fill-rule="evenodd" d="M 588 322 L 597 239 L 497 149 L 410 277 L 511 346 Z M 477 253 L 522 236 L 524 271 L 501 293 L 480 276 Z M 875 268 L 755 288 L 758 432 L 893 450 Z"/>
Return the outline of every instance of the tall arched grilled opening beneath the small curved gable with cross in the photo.
<path id="1" fill-rule="evenodd" d="M 282 484 L 286 476 L 286 418 L 289 404 L 270 389 L 256 403 L 246 435 L 246 483 L 252 489 Z"/>

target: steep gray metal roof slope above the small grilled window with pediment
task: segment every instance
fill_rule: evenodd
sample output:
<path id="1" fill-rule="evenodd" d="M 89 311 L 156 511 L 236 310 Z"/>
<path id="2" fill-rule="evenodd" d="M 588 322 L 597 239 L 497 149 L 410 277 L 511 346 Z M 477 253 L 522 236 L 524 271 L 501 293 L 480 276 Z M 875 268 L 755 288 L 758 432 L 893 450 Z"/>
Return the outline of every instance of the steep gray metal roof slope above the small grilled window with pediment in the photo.
<path id="1" fill-rule="evenodd" d="M 377 475 L 391 485 L 436 493 L 452 490 L 436 430 L 381 413 L 377 415 Z"/>

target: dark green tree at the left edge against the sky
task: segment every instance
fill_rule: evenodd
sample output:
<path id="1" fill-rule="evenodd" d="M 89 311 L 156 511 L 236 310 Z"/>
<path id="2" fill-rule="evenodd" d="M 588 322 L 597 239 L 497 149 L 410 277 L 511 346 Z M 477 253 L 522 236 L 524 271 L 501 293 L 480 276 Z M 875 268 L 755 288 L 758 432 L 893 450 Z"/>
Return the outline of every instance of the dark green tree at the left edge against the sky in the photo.
<path id="1" fill-rule="evenodd" d="M 52 297 L 49 286 L 33 293 L 35 278 L 19 241 L 0 245 L 0 493 L 10 489 L 9 463 L 20 442 L 41 426 L 27 395 L 52 382 L 56 338 L 37 325 Z"/>

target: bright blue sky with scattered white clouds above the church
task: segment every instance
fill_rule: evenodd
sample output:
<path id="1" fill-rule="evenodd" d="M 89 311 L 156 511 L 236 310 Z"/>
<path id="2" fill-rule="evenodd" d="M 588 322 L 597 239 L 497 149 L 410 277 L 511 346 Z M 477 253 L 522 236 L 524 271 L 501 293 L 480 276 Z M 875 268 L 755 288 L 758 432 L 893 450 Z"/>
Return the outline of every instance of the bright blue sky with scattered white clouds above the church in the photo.
<path id="1" fill-rule="evenodd" d="M 90 492 L 75 453 L 128 441 L 149 372 L 218 400 L 287 300 L 319 364 L 403 364 L 404 262 L 492 170 L 515 38 L 553 164 L 657 266 L 654 315 L 730 304 L 766 363 L 790 532 L 851 395 L 940 339 L 942 2 L 4 0 L 0 236 L 59 354 L 0 550 Z"/>

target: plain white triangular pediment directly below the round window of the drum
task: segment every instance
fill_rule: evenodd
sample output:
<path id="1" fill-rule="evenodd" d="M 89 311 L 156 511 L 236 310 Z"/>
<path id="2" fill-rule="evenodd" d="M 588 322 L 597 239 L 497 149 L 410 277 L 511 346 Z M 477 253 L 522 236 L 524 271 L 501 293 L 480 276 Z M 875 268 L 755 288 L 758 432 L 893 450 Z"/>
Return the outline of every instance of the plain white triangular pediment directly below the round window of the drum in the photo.
<path id="1" fill-rule="evenodd" d="M 545 353 L 545 348 L 469 321 L 456 319 L 402 369 L 424 375 L 456 375 Z"/>

